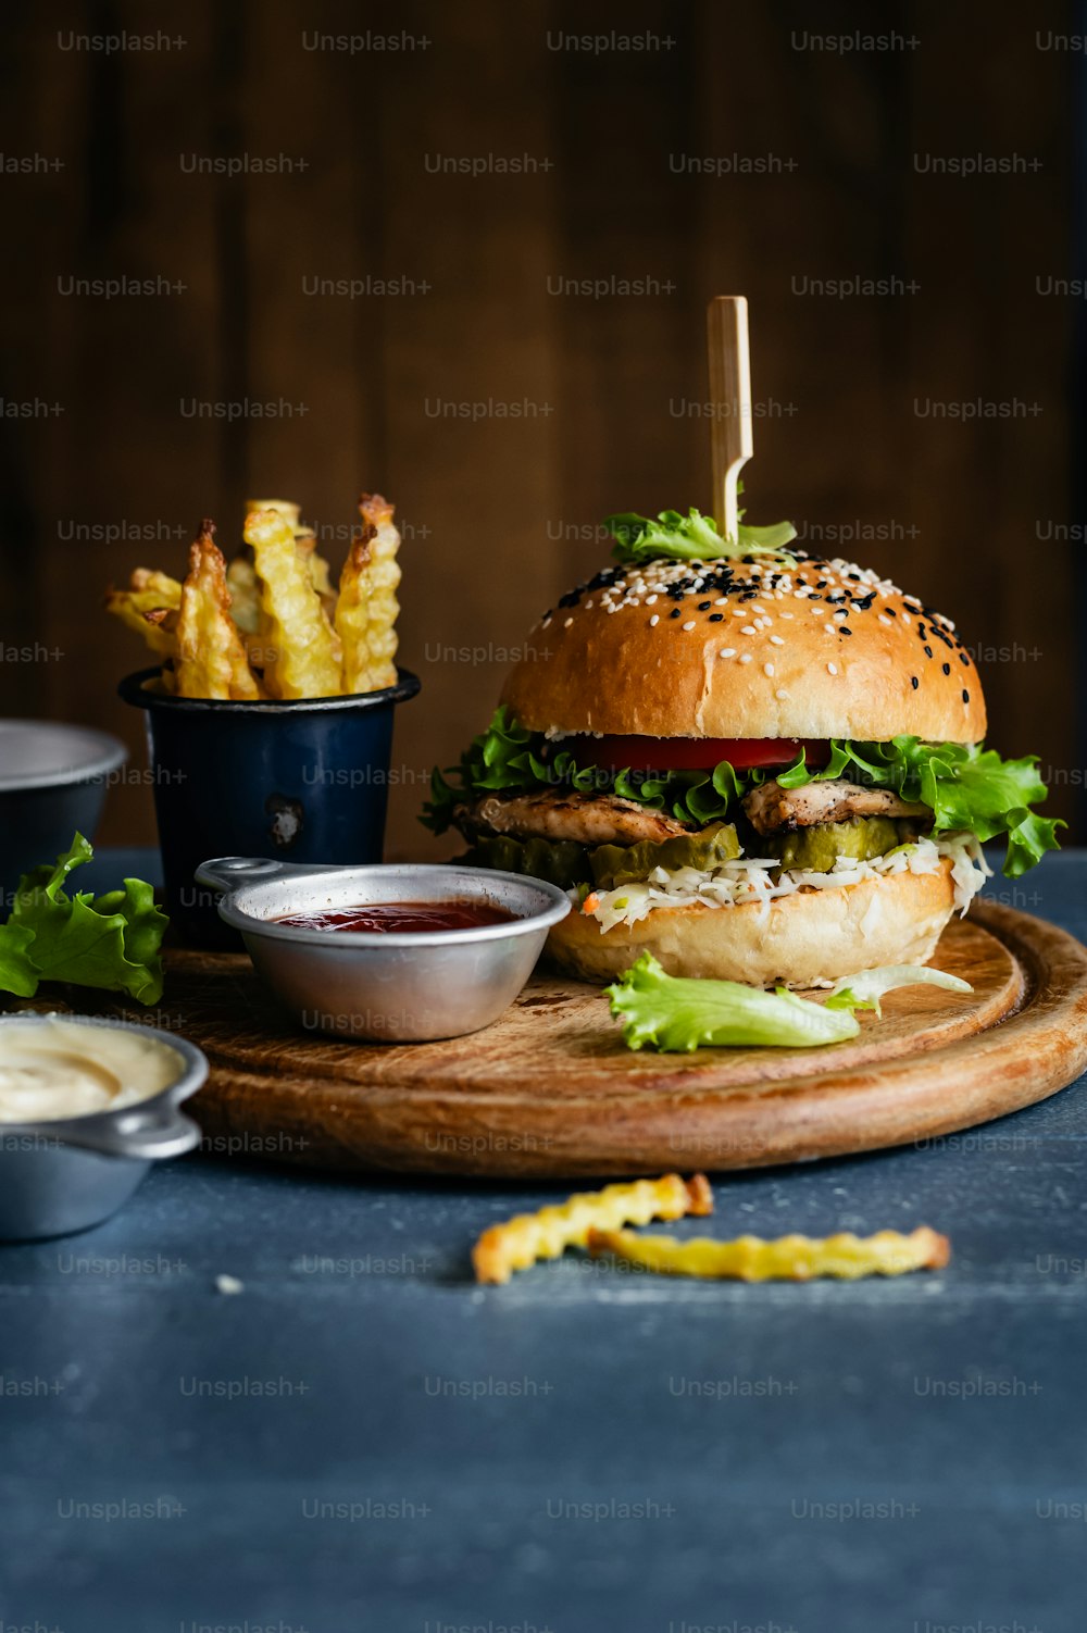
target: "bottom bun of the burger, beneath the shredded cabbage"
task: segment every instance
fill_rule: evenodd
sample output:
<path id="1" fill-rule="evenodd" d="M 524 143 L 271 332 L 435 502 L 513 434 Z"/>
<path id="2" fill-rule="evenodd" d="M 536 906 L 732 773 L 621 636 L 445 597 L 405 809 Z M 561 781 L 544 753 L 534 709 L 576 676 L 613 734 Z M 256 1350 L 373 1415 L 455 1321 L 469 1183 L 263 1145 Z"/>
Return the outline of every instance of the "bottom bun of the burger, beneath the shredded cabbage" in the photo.
<path id="1" fill-rule="evenodd" d="M 925 963 L 955 910 L 952 862 L 932 874 L 880 874 L 857 885 L 796 890 L 764 903 L 654 908 L 601 932 L 571 913 L 547 937 L 553 965 L 583 981 L 610 981 L 651 952 L 669 975 L 814 986 L 883 963 Z"/>

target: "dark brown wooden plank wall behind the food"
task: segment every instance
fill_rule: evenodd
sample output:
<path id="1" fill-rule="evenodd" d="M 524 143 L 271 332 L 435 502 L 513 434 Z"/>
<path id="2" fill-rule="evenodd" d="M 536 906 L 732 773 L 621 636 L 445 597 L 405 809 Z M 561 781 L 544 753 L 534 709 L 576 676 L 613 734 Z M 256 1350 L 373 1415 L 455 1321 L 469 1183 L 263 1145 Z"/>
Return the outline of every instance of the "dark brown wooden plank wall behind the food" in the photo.
<path id="1" fill-rule="evenodd" d="M 339 534 L 336 560 L 357 490 L 380 488 L 406 524 L 402 658 L 424 683 L 400 715 L 390 849 L 433 854 L 411 820 L 426 768 L 486 720 L 537 611 L 602 562 L 599 518 L 708 505 L 708 428 L 684 403 L 707 394 L 707 299 L 746 292 L 751 519 L 880 532 L 829 554 L 958 621 L 983 648 L 991 741 L 1040 753 L 1071 816 L 1084 304 L 1038 281 L 1084 276 L 1082 57 L 1038 36 L 1077 16 L 935 0 L 883 5 L 878 23 L 863 5 L 713 0 L 113 0 L 11 16 L 3 150 L 62 168 L 0 178 L 0 710 L 108 727 L 142 764 L 114 686 L 144 658 L 100 612 L 104 586 L 135 563 L 180 572 L 202 514 L 228 542 L 258 492 L 300 500 Z M 872 28 L 903 46 L 798 49 Z M 65 47 L 122 29 L 184 44 Z M 367 29 L 416 46 L 305 49 L 304 34 Z M 553 49 L 610 29 L 658 46 Z M 431 173 L 436 155 L 526 154 L 529 175 Z M 925 155 L 978 154 L 1032 168 L 922 173 Z M 191 155 L 286 155 L 292 173 L 193 175 Z M 692 155 L 726 171 L 738 157 L 739 173 L 681 173 Z M 184 289 L 64 292 L 126 274 Z M 304 292 L 367 276 L 416 292 Z M 553 292 L 612 278 L 650 292 Z M 801 292 L 845 278 L 919 287 Z M 193 418 L 193 398 L 305 412 Z M 490 400 L 537 412 L 436 412 Z M 927 402 L 1028 412 L 937 420 L 917 413 Z M 49 412 L 11 418 L 11 403 Z M 103 537 L 119 526 L 145 534 Z M 29 660 L 11 650 L 28 643 Z M 152 833 L 149 790 L 114 790 L 103 838 Z"/>

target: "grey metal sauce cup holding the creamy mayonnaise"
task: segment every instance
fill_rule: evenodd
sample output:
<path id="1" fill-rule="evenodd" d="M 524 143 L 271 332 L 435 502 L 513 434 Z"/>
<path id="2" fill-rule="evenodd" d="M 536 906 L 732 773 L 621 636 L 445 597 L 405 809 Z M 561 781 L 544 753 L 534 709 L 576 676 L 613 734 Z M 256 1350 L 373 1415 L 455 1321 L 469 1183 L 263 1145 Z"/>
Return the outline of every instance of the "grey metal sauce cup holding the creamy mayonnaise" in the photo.
<path id="1" fill-rule="evenodd" d="M 183 1037 L 132 1021 L 101 1016 L 0 1016 L 0 1027 L 70 1021 L 116 1027 L 166 1043 L 181 1057 L 178 1078 L 158 1094 L 118 1110 L 44 1122 L 0 1122 L 0 1241 L 70 1236 L 101 1225 L 122 1207 L 152 1163 L 181 1156 L 199 1145 L 201 1132 L 178 1106 L 207 1076 L 202 1052 Z"/>

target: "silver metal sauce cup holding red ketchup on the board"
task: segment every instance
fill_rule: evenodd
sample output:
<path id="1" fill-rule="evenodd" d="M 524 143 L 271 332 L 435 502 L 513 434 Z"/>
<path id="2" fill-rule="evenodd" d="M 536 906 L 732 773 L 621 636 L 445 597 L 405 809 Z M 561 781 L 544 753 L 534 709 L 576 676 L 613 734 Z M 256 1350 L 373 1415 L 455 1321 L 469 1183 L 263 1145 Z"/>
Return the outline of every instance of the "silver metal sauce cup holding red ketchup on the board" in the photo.
<path id="1" fill-rule="evenodd" d="M 258 973 L 310 1032 L 419 1043 L 490 1026 L 532 973 L 552 924 L 570 913 L 557 885 L 480 867 L 304 867 L 220 856 L 196 870 L 225 892 Z M 455 931 L 326 931 L 276 924 L 294 913 L 379 901 L 486 901 L 516 914 Z"/>

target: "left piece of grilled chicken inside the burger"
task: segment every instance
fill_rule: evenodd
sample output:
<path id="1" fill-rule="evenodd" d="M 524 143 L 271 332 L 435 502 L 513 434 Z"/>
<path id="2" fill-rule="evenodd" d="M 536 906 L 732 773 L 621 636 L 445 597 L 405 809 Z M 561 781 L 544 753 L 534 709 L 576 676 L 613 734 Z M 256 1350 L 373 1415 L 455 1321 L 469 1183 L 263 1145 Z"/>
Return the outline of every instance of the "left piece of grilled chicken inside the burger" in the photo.
<path id="1" fill-rule="evenodd" d="M 576 839 L 588 846 L 640 844 L 690 833 L 674 816 L 617 794 L 488 794 L 473 805 L 459 805 L 454 821 L 467 839 L 504 833 L 512 839 Z"/>

